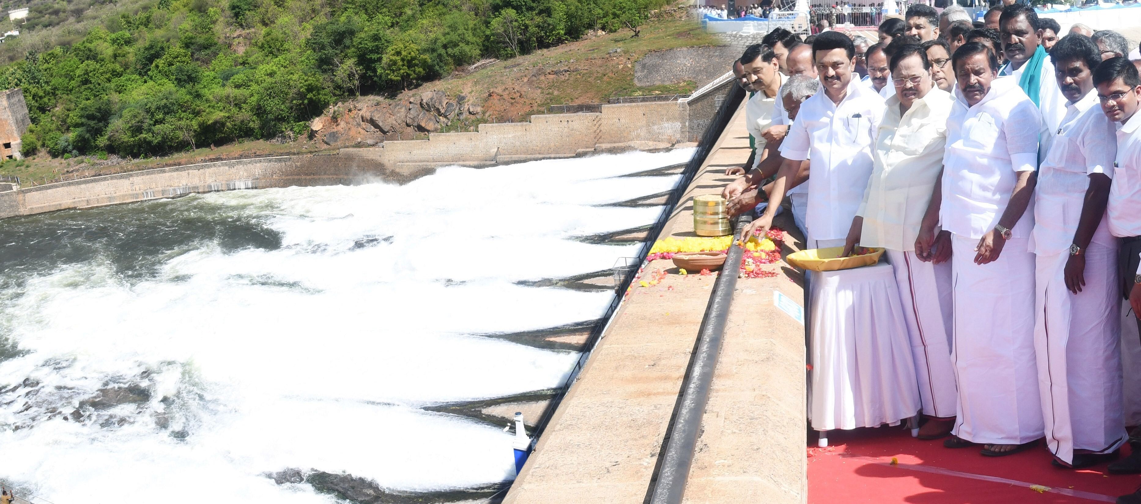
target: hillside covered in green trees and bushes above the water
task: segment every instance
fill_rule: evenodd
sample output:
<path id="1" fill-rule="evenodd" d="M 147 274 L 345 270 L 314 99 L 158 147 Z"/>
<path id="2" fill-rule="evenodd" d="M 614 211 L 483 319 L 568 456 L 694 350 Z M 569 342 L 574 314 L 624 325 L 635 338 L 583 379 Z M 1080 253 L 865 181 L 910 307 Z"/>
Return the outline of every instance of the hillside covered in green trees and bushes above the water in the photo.
<path id="1" fill-rule="evenodd" d="M 664 3 L 47 1 L 32 3 L 21 36 L 0 44 L 10 62 L 0 86 L 23 88 L 32 117 L 25 153 L 157 155 L 304 135 L 334 100 L 395 94 L 590 30 L 632 33 Z"/>

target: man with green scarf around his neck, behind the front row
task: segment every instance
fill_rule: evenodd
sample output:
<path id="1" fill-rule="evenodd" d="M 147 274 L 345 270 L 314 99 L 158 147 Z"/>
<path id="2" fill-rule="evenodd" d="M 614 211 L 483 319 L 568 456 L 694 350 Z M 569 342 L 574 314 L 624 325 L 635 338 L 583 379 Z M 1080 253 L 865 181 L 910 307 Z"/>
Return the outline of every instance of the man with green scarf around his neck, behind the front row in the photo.
<path id="1" fill-rule="evenodd" d="M 1042 29 L 1034 7 L 1014 3 L 1002 9 L 998 17 L 1002 50 L 1006 64 L 998 73 L 1018 80 L 1030 100 L 1042 112 L 1042 120 L 1051 133 L 1058 131 L 1066 115 L 1066 97 L 1058 89 L 1054 65 L 1050 63 L 1046 49 L 1038 43 Z"/>

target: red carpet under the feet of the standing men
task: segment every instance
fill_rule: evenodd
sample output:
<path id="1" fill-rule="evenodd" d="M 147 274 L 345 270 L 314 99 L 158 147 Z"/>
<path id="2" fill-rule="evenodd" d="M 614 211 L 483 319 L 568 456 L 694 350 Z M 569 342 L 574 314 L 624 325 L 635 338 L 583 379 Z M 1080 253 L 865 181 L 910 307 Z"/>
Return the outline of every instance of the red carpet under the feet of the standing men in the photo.
<path id="1" fill-rule="evenodd" d="M 920 441 L 903 428 L 884 426 L 830 431 L 828 444 L 808 448 L 810 504 L 1089 504 L 1114 502 L 1141 485 L 1141 475 L 1109 475 L 1104 464 L 1054 468 L 1042 441 L 1027 452 L 985 457 L 979 448 L 948 449 L 941 439 Z"/>

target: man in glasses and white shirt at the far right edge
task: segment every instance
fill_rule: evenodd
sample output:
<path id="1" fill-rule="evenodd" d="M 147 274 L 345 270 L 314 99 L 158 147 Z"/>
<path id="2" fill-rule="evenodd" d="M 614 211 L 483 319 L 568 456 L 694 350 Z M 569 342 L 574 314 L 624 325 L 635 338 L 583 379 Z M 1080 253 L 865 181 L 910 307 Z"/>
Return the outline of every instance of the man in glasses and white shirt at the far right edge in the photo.
<path id="1" fill-rule="evenodd" d="M 1141 78 L 1126 58 L 1111 58 L 1098 65 L 1093 83 L 1101 109 L 1117 125 L 1117 156 L 1114 161 L 1114 182 L 1106 205 L 1109 231 L 1120 238 L 1118 282 L 1128 299 L 1133 315 L 1141 317 Z M 1141 319 L 1138 320 L 1141 330 Z M 1141 472 L 1141 450 L 1134 449 L 1127 458 L 1109 464 L 1109 472 L 1126 474 Z M 1117 499 L 1119 503 L 1141 503 L 1141 493 Z"/>

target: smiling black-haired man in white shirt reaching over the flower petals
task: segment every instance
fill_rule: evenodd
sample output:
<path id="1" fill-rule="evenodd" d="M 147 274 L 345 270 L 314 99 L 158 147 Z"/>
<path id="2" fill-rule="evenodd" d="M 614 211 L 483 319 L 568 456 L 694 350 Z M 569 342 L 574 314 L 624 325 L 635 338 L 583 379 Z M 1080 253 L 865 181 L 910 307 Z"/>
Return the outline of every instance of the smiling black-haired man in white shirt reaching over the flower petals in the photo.
<path id="1" fill-rule="evenodd" d="M 843 245 L 872 173 L 872 139 L 883 117 L 883 98 L 852 78 L 851 39 L 825 32 L 812 42 L 824 92 L 804 100 L 780 145 L 777 172 L 764 214 L 752 229 L 767 231 L 801 162 L 812 158 L 808 178 L 808 247 Z"/>

